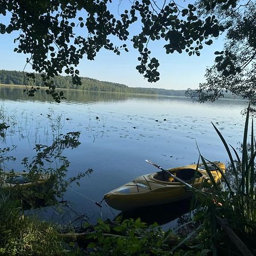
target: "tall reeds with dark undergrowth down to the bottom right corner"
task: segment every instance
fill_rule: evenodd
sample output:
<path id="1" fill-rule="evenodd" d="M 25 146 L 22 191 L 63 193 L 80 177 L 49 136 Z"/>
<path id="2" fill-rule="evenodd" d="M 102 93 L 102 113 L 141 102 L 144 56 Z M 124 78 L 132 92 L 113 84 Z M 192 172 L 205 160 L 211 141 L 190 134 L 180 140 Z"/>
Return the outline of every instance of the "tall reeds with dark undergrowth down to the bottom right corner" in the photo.
<path id="1" fill-rule="evenodd" d="M 234 247 L 237 247 L 242 255 L 253 255 L 251 253 L 253 250 L 255 250 L 254 253 L 256 252 L 256 143 L 253 119 L 251 121 L 251 131 L 249 131 L 249 110 L 250 105 L 245 119 L 241 156 L 233 146 L 225 141 L 217 127 L 212 124 L 224 144 L 229 156 L 230 170 L 232 171 L 232 180 L 230 180 L 216 166 L 222 175 L 224 190 L 221 191 L 216 186 L 207 167 L 207 160 L 200 155 L 215 189 L 214 193 L 209 192 L 205 195 L 205 200 L 203 200 L 203 204 L 207 208 L 208 215 L 205 215 L 204 219 L 208 221 L 208 228 L 211 231 L 213 255 L 220 255 L 217 251 L 219 252 L 221 247 L 227 245 L 230 246 L 229 253 L 231 255 L 232 250 L 236 251 Z M 250 141 L 248 140 L 249 136 Z M 250 146 L 248 146 L 248 142 Z"/>

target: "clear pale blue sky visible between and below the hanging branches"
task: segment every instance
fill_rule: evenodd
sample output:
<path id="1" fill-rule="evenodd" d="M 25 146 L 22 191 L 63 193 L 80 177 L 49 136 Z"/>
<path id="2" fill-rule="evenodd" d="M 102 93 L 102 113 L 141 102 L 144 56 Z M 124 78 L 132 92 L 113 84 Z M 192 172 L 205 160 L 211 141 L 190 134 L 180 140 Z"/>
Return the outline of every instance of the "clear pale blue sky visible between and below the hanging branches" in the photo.
<path id="1" fill-rule="evenodd" d="M 126 3 L 128 1 L 123 2 L 123 5 L 120 6 L 120 11 L 127 7 Z M 187 3 L 183 5 L 187 5 Z M 111 9 L 117 10 L 117 5 L 111 6 Z M 2 16 L 0 16 L 0 22 L 5 23 Z M 138 27 L 133 29 L 136 30 Z M 13 40 L 16 35 L 18 35 L 18 32 L 16 34 L 0 35 L 0 56 L 2 60 L 0 61 L 0 69 L 22 71 L 26 64 L 26 56 L 23 53 L 15 53 L 13 51 L 15 48 Z M 129 43 L 127 43 L 129 52 L 123 51 L 119 56 L 102 49 L 94 61 L 89 61 L 84 57 L 79 65 L 80 75 L 102 81 L 118 82 L 133 87 L 194 89 L 198 87 L 200 82 L 205 81 L 205 68 L 213 64 L 214 52 L 222 49 L 222 38 L 213 40 L 213 42 L 212 46 L 204 46 L 199 57 L 189 57 L 185 52 L 167 55 L 163 48 L 164 42 L 152 42 L 148 47 L 151 50 L 151 56 L 155 56 L 160 63 L 160 80 L 156 83 L 147 82 L 135 69 L 139 64 L 137 60 L 139 54 L 137 49 L 133 49 L 132 44 Z M 119 45 L 121 44 L 122 42 L 119 43 Z M 31 68 L 27 66 L 25 70 L 31 71 Z"/>

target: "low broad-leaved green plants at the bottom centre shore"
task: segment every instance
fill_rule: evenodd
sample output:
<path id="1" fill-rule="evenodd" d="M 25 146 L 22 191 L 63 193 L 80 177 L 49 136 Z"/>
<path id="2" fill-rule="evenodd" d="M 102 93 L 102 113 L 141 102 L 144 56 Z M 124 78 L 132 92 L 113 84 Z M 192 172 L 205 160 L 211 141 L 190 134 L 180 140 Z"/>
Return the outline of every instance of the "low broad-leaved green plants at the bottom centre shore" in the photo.
<path id="1" fill-rule="evenodd" d="M 86 236 L 93 240 L 87 246 L 90 255 L 196 255 L 189 246 L 174 253 L 172 247 L 179 243 L 179 238 L 171 230 L 163 232 L 156 223 L 147 226 L 138 218 L 114 224 L 98 220 L 94 233 Z"/>

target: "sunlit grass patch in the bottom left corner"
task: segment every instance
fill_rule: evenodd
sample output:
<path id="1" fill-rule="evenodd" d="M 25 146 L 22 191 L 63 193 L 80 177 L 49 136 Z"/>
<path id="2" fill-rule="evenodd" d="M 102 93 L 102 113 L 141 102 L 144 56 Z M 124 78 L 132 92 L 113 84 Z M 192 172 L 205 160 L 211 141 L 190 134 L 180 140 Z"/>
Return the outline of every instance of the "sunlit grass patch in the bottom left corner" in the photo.
<path id="1" fill-rule="evenodd" d="M 1 193 L 1 255 L 61 255 L 61 251 L 54 225 L 24 216 L 19 202 L 10 201 Z"/>

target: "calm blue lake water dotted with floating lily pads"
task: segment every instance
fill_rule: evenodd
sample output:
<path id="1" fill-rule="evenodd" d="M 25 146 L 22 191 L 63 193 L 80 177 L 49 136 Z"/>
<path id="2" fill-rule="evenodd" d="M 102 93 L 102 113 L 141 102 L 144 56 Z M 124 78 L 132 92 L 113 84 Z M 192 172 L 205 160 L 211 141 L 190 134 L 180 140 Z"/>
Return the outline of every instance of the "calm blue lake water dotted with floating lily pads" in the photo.
<path id="1" fill-rule="evenodd" d="M 64 200 L 90 221 L 113 218 L 117 210 L 100 201 L 106 192 L 135 177 L 157 171 L 144 160 L 164 168 L 197 162 L 199 151 L 209 160 L 228 161 L 228 155 L 212 123 L 234 147 L 242 141 L 243 110 L 247 102 L 218 100 L 199 104 L 190 98 L 132 96 L 118 93 L 65 91 L 68 100 L 57 104 L 43 96 L 27 98 L 22 88 L 0 86 L 0 117 L 8 125 L 1 147 L 15 145 L 16 162 L 2 168 L 22 171 L 21 160 L 35 155 L 35 143 L 51 144 L 57 134 L 80 131 L 80 146 L 64 152 L 71 162 L 68 177 L 92 168 L 89 177 L 69 189 Z M 160 207 L 156 211 L 163 211 Z M 172 211 L 172 207 L 168 210 Z M 57 218 L 56 209 L 46 209 Z M 65 216 L 72 220 L 73 213 Z"/>

